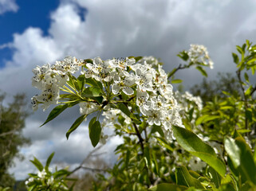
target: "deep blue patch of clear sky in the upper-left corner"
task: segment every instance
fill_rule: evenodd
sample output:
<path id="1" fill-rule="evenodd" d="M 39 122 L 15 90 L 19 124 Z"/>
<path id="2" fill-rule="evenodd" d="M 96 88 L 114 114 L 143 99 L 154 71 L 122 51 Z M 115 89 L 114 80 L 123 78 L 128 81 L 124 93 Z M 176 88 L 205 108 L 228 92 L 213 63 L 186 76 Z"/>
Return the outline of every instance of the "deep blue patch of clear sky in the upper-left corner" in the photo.
<path id="1" fill-rule="evenodd" d="M 39 27 L 44 35 L 48 35 L 50 13 L 57 8 L 59 0 L 17 0 L 17 12 L 0 14 L 0 45 L 13 41 L 14 33 L 22 33 L 26 28 Z M 0 68 L 3 60 L 10 60 L 12 49 L 0 49 Z"/>

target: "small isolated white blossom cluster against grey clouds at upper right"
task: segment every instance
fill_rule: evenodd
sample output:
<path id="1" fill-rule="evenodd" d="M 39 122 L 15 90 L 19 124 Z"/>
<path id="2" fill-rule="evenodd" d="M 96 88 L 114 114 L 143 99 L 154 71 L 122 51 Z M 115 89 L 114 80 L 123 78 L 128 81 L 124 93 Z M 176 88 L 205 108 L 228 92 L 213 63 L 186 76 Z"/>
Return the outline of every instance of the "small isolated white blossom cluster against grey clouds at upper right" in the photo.
<path id="1" fill-rule="evenodd" d="M 209 57 L 207 48 L 204 45 L 191 45 L 191 49 L 187 51 L 189 60 L 196 64 L 197 62 L 203 62 L 213 69 L 213 61 Z"/>

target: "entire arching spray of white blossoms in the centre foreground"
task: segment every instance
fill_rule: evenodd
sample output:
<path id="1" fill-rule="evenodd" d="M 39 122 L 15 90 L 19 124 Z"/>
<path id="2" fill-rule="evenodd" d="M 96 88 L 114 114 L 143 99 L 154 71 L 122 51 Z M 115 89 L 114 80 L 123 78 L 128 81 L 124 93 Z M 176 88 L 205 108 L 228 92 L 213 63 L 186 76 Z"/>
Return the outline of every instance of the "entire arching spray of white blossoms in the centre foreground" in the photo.
<path id="1" fill-rule="evenodd" d="M 32 84 L 42 92 L 39 96 L 33 96 L 33 110 L 37 110 L 39 103 L 44 111 L 50 104 L 58 103 L 60 88 L 69 80 L 69 74 L 77 72 L 80 67 L 81 75 L 100 82 L 106 95 L 113 95 L 108 98 L 104 96 L 108 103 L 125 101 L 120 98 L 125 94 L 131 98 L 131 102 L 136 103 L 140 117 L 144 117 L 149 126 L 163 126 L 165 131 L 171 131 L 171 125 L 182 126 L 179 105 L 173 96 L 171 84 L 168 84 L 167 73 L 154 57 L 142 57 L 137 62 L 133 57 L 109 60 L 96 57 L 88 62 L 66 57 L 52 66 L 37 66 L 33 69 Z M 108 87 L 106 84 L 109 84 Z M 108 100 L 109 97 L 113 99 Z M 79 105 L 82 115 L 89 115 L 102 107 L 99 103 L 85 100 Z M 107 107 L 110 108 L 109 104 L 104 106 L 104 111 Z M 106 118 L 111 119 L 110 116 Z"/>

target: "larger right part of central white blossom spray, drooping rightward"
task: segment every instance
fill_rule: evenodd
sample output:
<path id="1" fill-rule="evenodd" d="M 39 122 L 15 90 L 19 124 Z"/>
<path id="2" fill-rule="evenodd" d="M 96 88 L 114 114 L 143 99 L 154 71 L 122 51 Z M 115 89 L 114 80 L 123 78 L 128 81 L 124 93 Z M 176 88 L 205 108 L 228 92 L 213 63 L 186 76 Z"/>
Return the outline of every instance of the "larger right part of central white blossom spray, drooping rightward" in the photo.
<path id="1" fill-rule="evenodd" d="M 136 63 L 134 58 L 122 60 L 93 59 L 93 63 L 86 64 L 88 68 L 81 73 L 85 78 L 93 78 L 102 83 L 112 81 L 112 93 L 120 95 L 122 92 L 128 96 L 134 96 L 140 113 L 148 119 L 148 125 L 163 125 L 165 130 L 171 130 L 171 125 L 182 126 L 179 116 L 179 106 L 172 92 L 171 84 L 167 83 L 167 74 L 158 64 L 153 68 L 156 59 L 144 57 Z M 91 107 L 96 107 L 89 103 Z M 86 105 L 87 106 L 87 105 Z M 87 106 L 89 108 L 89 106 Z M 81 108 L 81 111 L 84 110 Z M 106 119 L 112 119 L 112 112 L 105 113 Z M 81 112 L 84 114 L 84 112 Z"/>

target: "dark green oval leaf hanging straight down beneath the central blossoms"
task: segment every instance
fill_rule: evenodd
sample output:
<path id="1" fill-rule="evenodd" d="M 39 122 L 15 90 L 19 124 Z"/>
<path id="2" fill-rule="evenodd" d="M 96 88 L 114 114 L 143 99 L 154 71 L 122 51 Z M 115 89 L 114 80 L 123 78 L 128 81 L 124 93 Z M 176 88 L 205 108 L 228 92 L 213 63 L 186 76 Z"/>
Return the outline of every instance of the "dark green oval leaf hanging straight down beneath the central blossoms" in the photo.
<path id="1" fill-rule="evenodd" d="M 96 117 L 94 117 L 93 119 L 91 119 L 89 123 L 89 137 L 94 147 L 100 141 L 100 134 L 101 134 L 100 122 L 96 121 Z"/>

